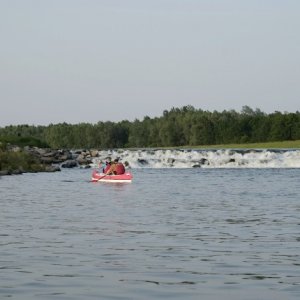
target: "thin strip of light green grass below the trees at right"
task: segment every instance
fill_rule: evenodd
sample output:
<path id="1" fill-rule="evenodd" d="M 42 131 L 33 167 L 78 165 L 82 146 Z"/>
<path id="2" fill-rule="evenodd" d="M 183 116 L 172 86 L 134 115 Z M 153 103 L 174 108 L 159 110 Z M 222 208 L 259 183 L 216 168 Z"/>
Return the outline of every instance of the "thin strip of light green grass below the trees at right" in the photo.
<path id="1" fill-rule="evenodd" d="M 300 149 L 300 140 L 282 141 L 269 143 L 249 143 L 249 144 L 224 144 L 224 145 L 206 145 L 206 146 L 186 146 L 183 148 L 195 149 Z"/>

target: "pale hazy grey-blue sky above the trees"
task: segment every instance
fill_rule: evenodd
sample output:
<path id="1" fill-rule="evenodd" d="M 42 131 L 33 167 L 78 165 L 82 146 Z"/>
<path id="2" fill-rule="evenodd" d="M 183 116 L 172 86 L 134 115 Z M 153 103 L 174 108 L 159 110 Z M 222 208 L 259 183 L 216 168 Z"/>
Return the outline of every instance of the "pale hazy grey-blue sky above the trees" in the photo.
<path id="1" fill-rule="evenodd" d="M 299 103 L 299 0 L 0 0 L 0 126 Z"/>

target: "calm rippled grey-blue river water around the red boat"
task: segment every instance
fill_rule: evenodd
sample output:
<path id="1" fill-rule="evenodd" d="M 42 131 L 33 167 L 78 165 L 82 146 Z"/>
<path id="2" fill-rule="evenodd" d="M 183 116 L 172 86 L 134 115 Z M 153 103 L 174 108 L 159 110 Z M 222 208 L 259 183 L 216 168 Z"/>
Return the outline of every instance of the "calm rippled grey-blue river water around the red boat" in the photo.
<path id="1" fill-rule="evenodd" d="M 0 177 L 0 299 L 299 299 L 299 169 Z"/>

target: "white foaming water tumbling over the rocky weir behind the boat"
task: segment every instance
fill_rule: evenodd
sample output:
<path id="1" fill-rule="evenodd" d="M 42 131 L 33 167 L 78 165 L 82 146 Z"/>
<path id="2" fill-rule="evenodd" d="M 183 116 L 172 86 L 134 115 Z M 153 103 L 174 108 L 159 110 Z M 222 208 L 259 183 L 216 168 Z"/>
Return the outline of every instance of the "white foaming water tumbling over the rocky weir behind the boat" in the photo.
<path id="1" fill-rule="evenodd" d="M 300 149 L 99 150 L 91 166 L 114 158 L 131 168 L 300 168 Z"/>

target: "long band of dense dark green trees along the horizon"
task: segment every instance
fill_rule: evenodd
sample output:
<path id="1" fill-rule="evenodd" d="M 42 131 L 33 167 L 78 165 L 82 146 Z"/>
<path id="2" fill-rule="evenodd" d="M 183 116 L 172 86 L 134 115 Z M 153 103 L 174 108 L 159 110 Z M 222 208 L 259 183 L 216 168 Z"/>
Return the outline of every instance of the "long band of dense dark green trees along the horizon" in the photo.
<path id="1" fill-rule="evenodd" d="M 256 143 L 300 139 L 300 112 L 264 113 L 244 106 L 235 110 L 203 111 L 193 106 L 173 107 L 162 116 L 133 122 L 96 124 L 10 125 L 0 128 L 0 140 L 30 138 L 51 148 L 176 147 Z M 27 140 L 27 143 L 29 141 Z"/>

